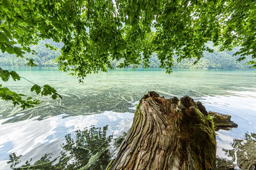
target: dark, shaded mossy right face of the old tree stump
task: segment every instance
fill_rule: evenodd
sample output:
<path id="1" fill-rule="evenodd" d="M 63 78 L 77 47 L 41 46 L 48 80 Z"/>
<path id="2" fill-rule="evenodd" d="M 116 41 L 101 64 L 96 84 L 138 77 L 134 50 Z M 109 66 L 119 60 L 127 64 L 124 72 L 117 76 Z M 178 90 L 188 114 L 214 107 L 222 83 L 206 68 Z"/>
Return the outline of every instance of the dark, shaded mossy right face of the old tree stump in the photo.
<path id="1" fill-rule="evenodd" d="M 216 136 L 213 126 L 212 116 L 204 116 L 198 109 L 192 115 L 183 115 L 181 118 L 185 123 L 183 126 L 184 138 L 188 146 L 194 148 L 192 157 L 194 158 L 196 169 L 214 169 L 216 153 Z"/>

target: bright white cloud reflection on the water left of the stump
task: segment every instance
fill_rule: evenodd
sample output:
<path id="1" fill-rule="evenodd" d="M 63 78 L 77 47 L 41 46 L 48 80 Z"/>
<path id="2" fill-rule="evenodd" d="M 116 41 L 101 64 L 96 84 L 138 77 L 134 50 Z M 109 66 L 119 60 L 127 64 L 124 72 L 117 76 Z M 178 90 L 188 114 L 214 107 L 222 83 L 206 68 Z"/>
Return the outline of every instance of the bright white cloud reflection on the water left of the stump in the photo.
<path id="1" fill-rule="evenodd" d="M 9 169 L 6 162 L 10 153 L 23 155 L 20 159 L 22 164 L 30 158 L 40 159 L 49 153 L 49 156 L 55 159 L 63 150 L 61 146 L 65 144 L 67 134 L 70 135 L 70 139 L 74 139 L 76 132 L 91 126 L 97 128 L 108 125 L 106 136 L 113 135 L 116 139 L 116 136 L 122 135 L 131 127 L 133 116 L 134 113 L 105 111 L 88 116 L 52 116 L 41 121 L 34 117 L 0 125 L 0 169 Z"/>

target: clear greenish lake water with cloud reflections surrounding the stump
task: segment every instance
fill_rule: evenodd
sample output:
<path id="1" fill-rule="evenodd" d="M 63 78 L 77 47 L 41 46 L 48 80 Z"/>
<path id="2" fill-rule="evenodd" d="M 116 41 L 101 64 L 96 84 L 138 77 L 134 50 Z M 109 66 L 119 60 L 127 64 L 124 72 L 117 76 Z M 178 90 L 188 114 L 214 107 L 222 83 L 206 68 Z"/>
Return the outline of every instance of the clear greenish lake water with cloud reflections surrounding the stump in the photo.
<path id="1" fill-rule="evenodd" d="M 77 169 L 96 153 L 101 159 L 91 169 L 104 169 L 116 153 L 118 136 L 131 127 L 135 105 L 148 91 L 165 98 L 188 95 L 201 101 L 207 111 L 230 114 L 239 127 L 216 132 L 217 157 L 237 168 L 240 145 L 256 141 L 254 70 L 174 69 L 166 74 L 162 69 L 126 68 L 88 75 L 84 84 L 79 84 L 77 78 L 54 67 L 3 69 L 15 70 L 38 85 L 48 84 L 63 99 L 37 96 L 24 79 L 3 82 L 10 90 L 40 99 L 42 104 L 23 111 L 0 100 L 0 169 Z M 99 155 L 103 153 L 100 149 L 103 155 Z"/>

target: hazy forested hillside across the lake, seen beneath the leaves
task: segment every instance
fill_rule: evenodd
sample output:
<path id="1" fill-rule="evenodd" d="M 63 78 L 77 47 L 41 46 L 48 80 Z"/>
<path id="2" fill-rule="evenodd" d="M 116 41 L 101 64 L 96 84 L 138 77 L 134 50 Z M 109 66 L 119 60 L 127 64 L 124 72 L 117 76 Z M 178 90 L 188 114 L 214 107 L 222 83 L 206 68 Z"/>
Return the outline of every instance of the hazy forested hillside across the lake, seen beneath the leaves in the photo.
<path id="1" fill-rule="evenodd" d="M 57 47 L 57 50 L 50 50 L 47 48 L 45 44 L 50 44 L 54 47 Z M 33 59 L 35 64 L 38 66 L 57 66 L 57 62 L 55 58 L 60 55 L 60 50 L 62 48 L 62 43 L 56 43 L 52 40 L 44 40 L 40 41 L 38 45 L 31 46 L 31 50 L 35 50 L 37 54 L 25 54 L 23 58 L 16 57 L 14 54 L 1 53 L 0 52 L 0 66 L 26 66 L 27 61 L 26 58 Z M 181 62 L 177 62 L 177 57 L 175 58 L 175 66 L 174 68 L 220 68 L 220 69 L 244 69 L 248 68 L 249 65 L 246 63 L 251 59 L 250 57 L 244 59 L 241 62 L 237 62 L 236 60 L 239 56 L 233 57 L 233 54 L 236 51 L 239 51 L 239 48 L 233 48 L 232 51 L 218 51 L 218 48 L 213 47 L 212 42 L 208 42 L 206 44 L 207 47 L 214 49 L 213 53 L 209 53 L 208 51 L 204 51 L 204 57 L 201 58 L 198 63 L 193 65 L 195 59 L 183 59 Z M 156 54 L 153 54 L 149 59 L 151 68 L 159 68 L 160 61 L 157 59 Z M 113 67 L 117 67 L 123 60 L 117 61 L 116 59 L 111 61 L 111 65 Z M 132 65 L 130 65 L 132 67 Z M 140 67 L 143 67 L 141 64 Z"/>

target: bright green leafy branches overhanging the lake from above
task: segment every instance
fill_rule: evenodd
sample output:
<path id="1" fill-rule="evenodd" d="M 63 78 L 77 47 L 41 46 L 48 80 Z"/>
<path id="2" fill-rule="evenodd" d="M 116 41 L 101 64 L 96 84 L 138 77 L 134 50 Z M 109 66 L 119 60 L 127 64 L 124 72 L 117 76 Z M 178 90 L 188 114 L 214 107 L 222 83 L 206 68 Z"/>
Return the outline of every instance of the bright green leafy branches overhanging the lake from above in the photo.
<path id="1" fill-rule="evenodd" d="M 153 53 L 160 67 L 171 73 L 174 55 L 178 62 L 197 62 L 203 51 L 213 52 L 205 46 L 208 41 L 221 51 L 240 47 L 234 55 L 239 61 L 251 55 L 248 63 L 256 68 L 255 0 L 1 0 L 0 6 L 3 53 L 23 57 L 25 52 L 36 53 L 29 45 L 39 40 L 63 42 L 60 70 L 72 71 L 80 82 L 87 74 L 113 68 L 111 59 L 123 59 L 121 68 L 141 62 L 148 68 Z M 32 59 L 27 60 L 34 66 Z M 1 68 L 0 75 L 3 81 L 9 76 L 20 79 Z M 49 85 L 36 87 L 31 90 L 38 94 L 58 95 Z M 37 104 L 35 100 L 26 105 L 28 101 L 12 93 L 0 87 L 2 99 L 25 101 L 23 108 Z"/>

